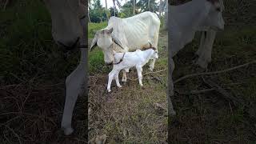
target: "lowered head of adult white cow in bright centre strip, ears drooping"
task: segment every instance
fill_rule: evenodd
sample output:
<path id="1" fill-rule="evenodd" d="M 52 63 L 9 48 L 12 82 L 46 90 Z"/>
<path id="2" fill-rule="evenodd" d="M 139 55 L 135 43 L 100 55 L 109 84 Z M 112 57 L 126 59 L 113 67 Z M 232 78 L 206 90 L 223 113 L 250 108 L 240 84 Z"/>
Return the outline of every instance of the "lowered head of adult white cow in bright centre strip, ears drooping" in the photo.
<path id="1" fill-rule="evenodd" d="M 104 61 L 106 64 L 111 64 L 114 61 L 113 42 L 118 44 L 122 49 L 122 43 L 112 34 L 113 28 L 98 30 L 94 35 L 94 39 L 91 42 L 90 50 L 93 50 L 95 46 L 102 49 L 104 54 Z"/>

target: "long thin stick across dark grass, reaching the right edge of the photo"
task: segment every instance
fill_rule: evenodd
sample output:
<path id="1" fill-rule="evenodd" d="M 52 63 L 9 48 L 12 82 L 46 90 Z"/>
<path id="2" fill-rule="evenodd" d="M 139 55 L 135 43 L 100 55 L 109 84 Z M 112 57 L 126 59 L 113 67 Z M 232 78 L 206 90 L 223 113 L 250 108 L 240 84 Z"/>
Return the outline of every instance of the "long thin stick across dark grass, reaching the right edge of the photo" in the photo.
<path id="1" fill-rule="evenodd" d="M 235 70 L 235 69 L 238 69 L 238 68 L 240 68 L 240 67 L 248 66 L 248 65 L 253 64 L 253 63 L 256 63 L 256 61 L 248 62 L 248 63 L 243 64 L 243 65 L 240 65 L 240 66 L 234 66 L 234 67 L 232 67 L 232 68 L 230 68 L 230 69 L 226 69 L 226 70 L 219 70 L 219 71 L 206 72 L 206 73 L 197 73 L 197 74 L 188 74 L 188 75 L 183 76 L 182 78 L 178 78 L 177 80 L 174 81 L 174 83 L 177 83 L 177 82 L 182 81 L 183 79 L 190 78 L 190 77 L 194 77 L 194 76 L 198 76 L 198 75 L 210 75 L 210 74 L 225 73 L 225 72 L 227 72 L 227 71 Z"/>

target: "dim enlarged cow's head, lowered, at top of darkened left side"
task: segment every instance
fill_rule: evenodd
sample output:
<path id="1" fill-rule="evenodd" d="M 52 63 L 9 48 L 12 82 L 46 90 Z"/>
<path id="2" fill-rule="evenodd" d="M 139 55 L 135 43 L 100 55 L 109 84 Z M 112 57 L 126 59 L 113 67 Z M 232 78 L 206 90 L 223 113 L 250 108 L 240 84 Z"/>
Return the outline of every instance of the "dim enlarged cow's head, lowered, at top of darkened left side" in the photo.
<path id="1" fill-rule="evenodd" d="M 50 11 L 52 35 L 58 45 L 67 50 L 78 46 L 82 37 L 80 19 L 86 17 L 86 6 L 80 0 L 44 0 Z"/>

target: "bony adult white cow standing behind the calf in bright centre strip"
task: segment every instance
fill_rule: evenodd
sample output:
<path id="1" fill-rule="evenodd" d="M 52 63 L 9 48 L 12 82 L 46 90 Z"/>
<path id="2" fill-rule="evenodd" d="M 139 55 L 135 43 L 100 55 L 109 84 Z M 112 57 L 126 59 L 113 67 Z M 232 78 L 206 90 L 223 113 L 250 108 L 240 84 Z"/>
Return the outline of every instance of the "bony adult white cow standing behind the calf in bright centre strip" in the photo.
<path id="1" fill-rule="evenodd" d="M 144 12 L 130 18 L 111 17 L 105 29 L 98 30 L 94 35 L 90 50 L 94 46 L 102 49 L 104 61 L 112 64 L 113 50 L 128 52 L 147 47 L 150 42 L 158 50 L 158 34 L 160 20 L 157 14 Z M 155 59 L 150 63 L 154 70 Z M 123 70 L 122 82 L 126 82 L 126 71 Z"/>

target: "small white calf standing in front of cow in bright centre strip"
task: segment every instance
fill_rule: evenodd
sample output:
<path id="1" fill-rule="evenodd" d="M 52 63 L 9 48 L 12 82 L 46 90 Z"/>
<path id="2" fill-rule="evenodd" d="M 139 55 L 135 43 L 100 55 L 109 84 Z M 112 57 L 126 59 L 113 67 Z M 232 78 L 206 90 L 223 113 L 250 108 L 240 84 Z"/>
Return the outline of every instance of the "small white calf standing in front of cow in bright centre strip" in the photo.
<path id="1" fill-rule="evenodd" d="M 158 58 L 158 51 L 155 48 L 150 48 L 148 50 L 136 50 L 134 52 L 126 53 L 116 53 L 114 52 L 114 63 L 113 70 L 109 74 L 109 82 L 107 84 L 107 90 L 110 92 L 110 86 L 113 78 L 117 83 L 118 87 L 121 87 L 118 79 L 118 74 L 120 70 L 129 71 L 130 67 L 136 67 L 138 73 L 138 82 L 140 86 L 142 84 L 142 66 L 146 65 L 150 59 Z"/>

